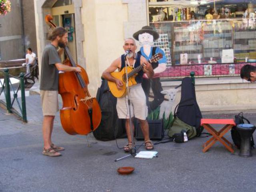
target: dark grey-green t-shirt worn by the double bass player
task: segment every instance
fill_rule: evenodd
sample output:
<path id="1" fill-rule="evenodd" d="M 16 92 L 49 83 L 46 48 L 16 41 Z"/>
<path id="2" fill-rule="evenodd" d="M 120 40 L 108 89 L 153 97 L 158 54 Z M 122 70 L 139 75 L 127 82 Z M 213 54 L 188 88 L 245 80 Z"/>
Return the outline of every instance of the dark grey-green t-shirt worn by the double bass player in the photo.
<path id="1" fill-rule="evenodd" d="M 56 63 L 61 63 L 57 48 L 48 44 L 42 56 L 40 90 L 58 90 L 59 74 Z"/>

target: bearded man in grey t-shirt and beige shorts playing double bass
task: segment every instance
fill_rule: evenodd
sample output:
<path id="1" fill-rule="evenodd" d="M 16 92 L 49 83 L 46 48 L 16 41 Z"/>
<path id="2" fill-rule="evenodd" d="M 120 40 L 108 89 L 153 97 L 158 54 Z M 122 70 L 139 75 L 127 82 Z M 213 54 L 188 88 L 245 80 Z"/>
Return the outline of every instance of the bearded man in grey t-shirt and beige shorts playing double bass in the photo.
<path id="1" fill-rule="evenodd" d="M 81 72 L 79 67 L 71 67 L 62 64 L 60 55 L 64 52 L 63 47 L 68 43 L 68 32 L 62 28 L 55 28 L 50 33 L 48 39 L 50 44 L 46 45 L 42 54 L 42 66 L 40 77 L 40 96 L 43 111 L 42 134 L 44 140 L 43 155 L 60 156 L 63 147 L 52 143 L 53 122 L 56 112 L 58 112 L 58 77 L 59 71 Z M 57 51 L 58 46 L 60 50 Z"/>

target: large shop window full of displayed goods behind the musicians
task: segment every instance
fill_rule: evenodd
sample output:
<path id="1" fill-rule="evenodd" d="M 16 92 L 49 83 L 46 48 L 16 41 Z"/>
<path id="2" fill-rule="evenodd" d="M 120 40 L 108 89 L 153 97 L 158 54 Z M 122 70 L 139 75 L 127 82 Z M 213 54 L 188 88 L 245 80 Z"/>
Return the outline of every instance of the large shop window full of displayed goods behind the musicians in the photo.
<path id="1" fill-rule="evenodd" d="M 256 60 L 256 0 L 148 0 L 148 13 L 168 65 Z"/>

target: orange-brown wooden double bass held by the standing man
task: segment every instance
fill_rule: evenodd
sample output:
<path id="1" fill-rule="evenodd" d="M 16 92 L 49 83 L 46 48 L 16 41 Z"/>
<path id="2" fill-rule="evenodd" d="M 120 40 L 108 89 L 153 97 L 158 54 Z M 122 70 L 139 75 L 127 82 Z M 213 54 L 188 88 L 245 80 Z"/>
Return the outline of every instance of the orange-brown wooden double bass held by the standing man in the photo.
<path id="1" fill-rule="evenodd" d="M 46 15 L 46 23 L 50 28 L 56 28 L 52 16 Z M 71 135 L 87 135 L 98 128 L 101 121 L 101 109 L 88 91 L 89 79 L 86 71 L 77 65 L 72 58 L 68 46 L 64 46 L 68 58 L 62 64 L 80 67 L 81 72 L 64 72 L 59 74 L 59 94 L 62 97 L 60 120 L 62 128 Z"/>

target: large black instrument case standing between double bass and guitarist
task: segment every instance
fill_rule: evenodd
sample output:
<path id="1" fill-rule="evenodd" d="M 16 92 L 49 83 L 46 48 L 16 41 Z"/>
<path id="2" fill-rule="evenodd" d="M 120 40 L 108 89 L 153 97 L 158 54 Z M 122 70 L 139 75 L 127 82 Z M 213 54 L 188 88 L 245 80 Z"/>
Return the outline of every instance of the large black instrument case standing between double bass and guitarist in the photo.
<path id="1" fill-rule="evenodd" d="M 117 98 L 111 94 L 107 80 L 102 80 L 96 99 L 101 108 L 102 119 L 98 128 L 93 132 L 94 137 L 102 141 L 126 137 L 125 120 L 118 119 Z"/>

